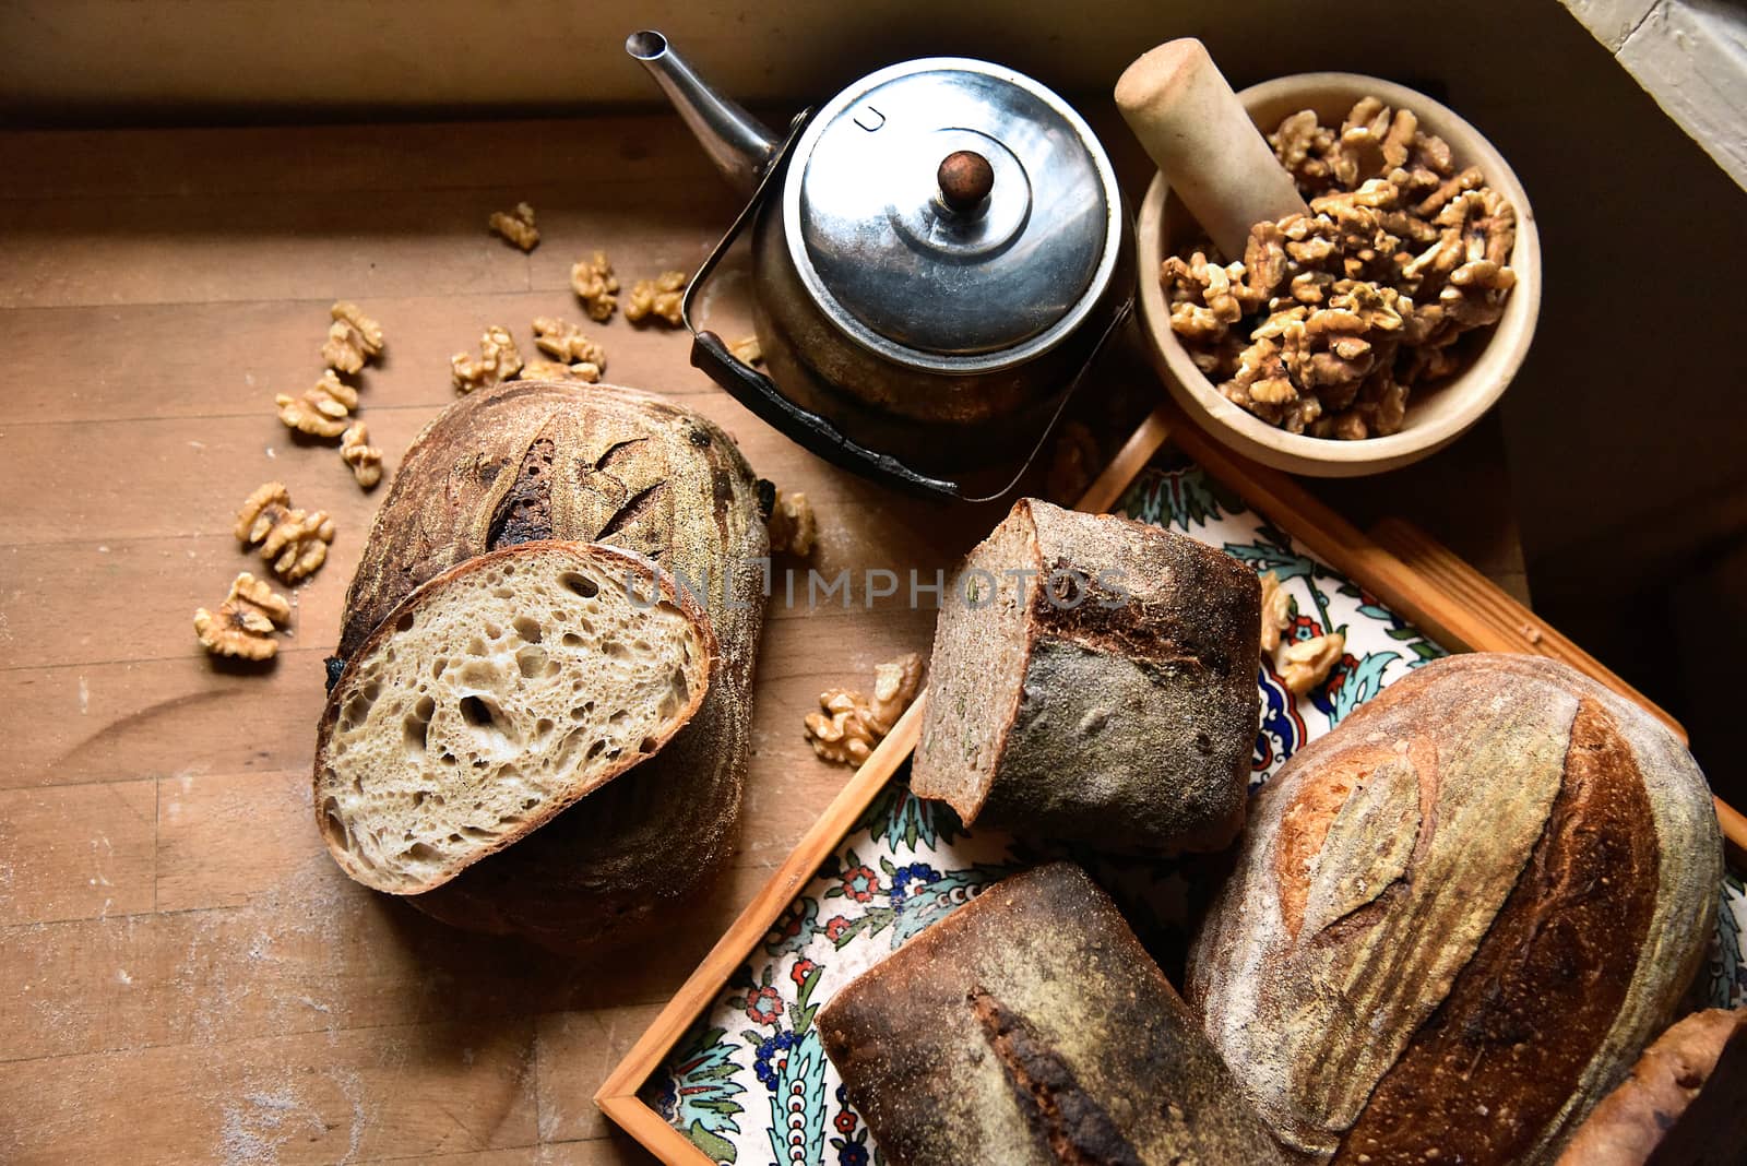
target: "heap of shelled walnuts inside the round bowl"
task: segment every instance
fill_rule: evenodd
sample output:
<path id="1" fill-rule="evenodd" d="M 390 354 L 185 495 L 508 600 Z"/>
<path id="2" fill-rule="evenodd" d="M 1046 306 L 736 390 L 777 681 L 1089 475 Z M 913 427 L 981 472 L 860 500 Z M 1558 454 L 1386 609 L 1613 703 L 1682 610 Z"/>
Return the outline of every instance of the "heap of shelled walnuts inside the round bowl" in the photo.
<path id="1" fill-rule="evenodd" d="M 1167 258 L 1170 330 L 1268 424 L 1396 433 L 1408 391 L 1455 374 L 1455 340 L 1502 314 L 1516 215 L 1478 169 L 1455 173 L 1448 143 L 1410 110 L 1377 98 L 1338 131 L 1303 110 L 1268 140 L 1310 213 L 1258 223 L 1239 264 L 1221 267 L 1205 244 Z"/>

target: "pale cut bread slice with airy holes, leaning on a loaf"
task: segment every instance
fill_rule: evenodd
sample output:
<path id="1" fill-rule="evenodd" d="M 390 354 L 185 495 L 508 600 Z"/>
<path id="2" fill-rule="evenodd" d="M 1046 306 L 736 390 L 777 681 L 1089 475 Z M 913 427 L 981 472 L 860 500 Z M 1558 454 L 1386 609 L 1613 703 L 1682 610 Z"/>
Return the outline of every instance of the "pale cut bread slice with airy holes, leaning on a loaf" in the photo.
<path id="1" fill-rule="evenodd" d="M 697 712 L 709 616 L 648 559 L 522 543 L 438 574 L 328 696 L 316 822 L 341 868 L 419 894 L 652 756 Z"/>

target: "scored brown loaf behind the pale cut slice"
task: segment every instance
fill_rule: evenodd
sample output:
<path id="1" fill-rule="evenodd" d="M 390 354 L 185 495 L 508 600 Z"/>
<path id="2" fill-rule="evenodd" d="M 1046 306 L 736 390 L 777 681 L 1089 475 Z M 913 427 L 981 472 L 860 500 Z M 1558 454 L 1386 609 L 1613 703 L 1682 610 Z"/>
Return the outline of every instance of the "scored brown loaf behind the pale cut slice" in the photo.
<path id="1" fill-rule="evenodd" d="M 514 847 L 409 902 L 458 927 L 575 951 L 692 895 L 732 847 L 751 744 L 769 550 L 760 484 L 708 419 L 613 386 L 508 382 L 412 442 L 346 595 L 339 662 L 419 583 L 501 546 L 606 543 L 683 574 L 718 663 L 662 751 Z"/>

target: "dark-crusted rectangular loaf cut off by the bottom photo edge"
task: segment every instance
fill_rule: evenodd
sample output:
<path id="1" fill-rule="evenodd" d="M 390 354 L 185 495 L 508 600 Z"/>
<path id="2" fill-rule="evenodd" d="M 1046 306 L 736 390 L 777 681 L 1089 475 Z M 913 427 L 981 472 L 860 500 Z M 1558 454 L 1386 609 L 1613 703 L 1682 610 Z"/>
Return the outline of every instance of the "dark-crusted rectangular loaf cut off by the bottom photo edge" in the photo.
<path id="1" fill-rule="evenodd" d="M 1281 1161 L 1116 904 L 1067 862 L 984 890 L 818 1025 L 894 1166 Z"/>

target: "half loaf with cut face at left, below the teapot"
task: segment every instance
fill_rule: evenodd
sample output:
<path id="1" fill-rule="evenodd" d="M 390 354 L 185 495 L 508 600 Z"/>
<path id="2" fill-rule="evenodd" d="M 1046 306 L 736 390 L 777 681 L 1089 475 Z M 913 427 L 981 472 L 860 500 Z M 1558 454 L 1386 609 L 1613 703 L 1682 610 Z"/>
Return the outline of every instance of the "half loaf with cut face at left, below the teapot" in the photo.
<path id="1" fill-rule="evenodd" d="M 1020 499 L 945 597 L 910 789 L 1134 852 L 1244 824 L 1261 588 L 1153 525 Z"/>

